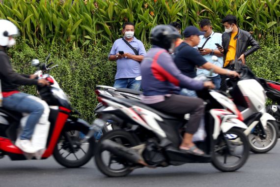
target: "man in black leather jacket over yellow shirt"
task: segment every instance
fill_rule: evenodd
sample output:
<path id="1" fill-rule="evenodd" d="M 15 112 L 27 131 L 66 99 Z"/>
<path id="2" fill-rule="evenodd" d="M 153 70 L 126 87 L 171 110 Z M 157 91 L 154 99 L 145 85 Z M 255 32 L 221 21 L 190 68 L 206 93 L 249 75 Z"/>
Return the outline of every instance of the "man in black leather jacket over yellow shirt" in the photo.
<path id="1" fill-rule="evenodd" d="M 222 20 L 224 33 L 222 35 L 222 46 L 218 48 L 224 54 L 224 68 L 228 70 L 238 70 L 246 65 L 245 58 L 259 49 L 259 43 L 252 35 L 237 27 L 237 18 L 227 15 Z M 247 48 L 252 46 L 249 50 Z M 224 81 L 227 77 L 221 75 L 221 88 L 225 91 Z"/>

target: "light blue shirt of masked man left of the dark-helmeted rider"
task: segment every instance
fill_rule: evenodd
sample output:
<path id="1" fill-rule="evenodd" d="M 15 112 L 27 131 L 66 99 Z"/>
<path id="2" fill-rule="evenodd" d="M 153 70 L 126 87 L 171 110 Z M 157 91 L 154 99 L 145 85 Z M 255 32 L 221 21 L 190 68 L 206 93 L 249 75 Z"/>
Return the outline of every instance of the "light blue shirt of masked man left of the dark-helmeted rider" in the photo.
<path id="1" fill-rule="evenodd" d="M 130 41 L 129 44 L 132 45 L 132 47 L 134 47 L 138 51 L 139 55 L 146 55 L 143 43 L 140 40 L 136 39 L 136 37 L 133 37 L 133 40 Z M 117 39 L 113 43 L 108 58 L 111 55 L 116 55 L 119 51 L 135 55 L 133 50 L 122 40 L 122 38 Z M 116 62 L 117 72 L 115 75 L 115 79 L 135 78 L 141 75 L 140 62 L 127 58 L 118 59 Z"/>

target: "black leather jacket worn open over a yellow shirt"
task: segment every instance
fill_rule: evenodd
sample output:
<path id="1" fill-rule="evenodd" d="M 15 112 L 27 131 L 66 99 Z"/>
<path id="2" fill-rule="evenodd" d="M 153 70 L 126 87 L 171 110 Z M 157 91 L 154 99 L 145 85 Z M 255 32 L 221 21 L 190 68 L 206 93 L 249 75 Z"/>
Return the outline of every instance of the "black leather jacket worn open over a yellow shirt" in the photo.
<path id="1" fill-rule="evenodd" d="M 224 47 L 224 61 L 225 61 L 226 53 L 228 50 L 230 37 L 231 37 L 231 32 L 229 32 L 229 33 L 224 32 L 222 35 L 222 45 Z M 253 52 L 255 52 L 256 50 L 258 50 L 259 43 L 252 37 L 252 35 L 249 32 L 241 30 L 239 28 L 238 28 L 238 33 L 234 37 L 234 39 L 237 39 L 234 66 L 235 66 L 235 69 L 239 69 L 244 65 L 242 64 L 241 61 L 238 61 L 237 59 L 242 54 L 244 54 L 245 57 L 247 57 L 248 55 L 250 55 Z M 247 50 L 248 46 L 252 46 L 252 47 L 249 50 Z"/>

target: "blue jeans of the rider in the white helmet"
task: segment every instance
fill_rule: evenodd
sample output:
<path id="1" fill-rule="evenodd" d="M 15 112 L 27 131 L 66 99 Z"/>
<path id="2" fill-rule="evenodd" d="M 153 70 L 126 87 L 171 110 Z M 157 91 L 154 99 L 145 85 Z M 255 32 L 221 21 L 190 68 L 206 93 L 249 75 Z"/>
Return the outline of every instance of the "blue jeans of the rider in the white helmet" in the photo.
<path id="1" fill-rule="evenodd" d="M 26 125 L 20 136 L 21 140 L 31 139 L 35 125 L 38 123 L 44 112 L 44 106 L 32 97 L 35 96 L 25 93 L 12 94 L 8 97 L 3 97 L 4 108 L 29 114 Z"/>

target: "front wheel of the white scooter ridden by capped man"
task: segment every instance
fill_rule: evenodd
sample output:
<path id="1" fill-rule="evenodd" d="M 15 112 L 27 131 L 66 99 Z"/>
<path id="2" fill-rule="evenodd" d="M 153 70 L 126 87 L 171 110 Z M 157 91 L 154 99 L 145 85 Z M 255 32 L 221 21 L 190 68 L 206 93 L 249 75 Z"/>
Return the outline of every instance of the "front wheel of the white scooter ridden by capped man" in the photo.
<path id="1" fill-rule="evenodd" d="M 274 148 L 279 137 L 278 125 L 275 121 L 268 121 L 266 138 L 261 139 L 253 134 L 248 135 L 249 144 L 253 153 L 267 153 Z M 257 146 L 259 145 L 259 146 Z"/>

